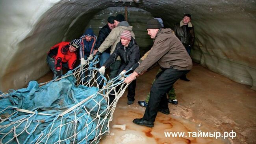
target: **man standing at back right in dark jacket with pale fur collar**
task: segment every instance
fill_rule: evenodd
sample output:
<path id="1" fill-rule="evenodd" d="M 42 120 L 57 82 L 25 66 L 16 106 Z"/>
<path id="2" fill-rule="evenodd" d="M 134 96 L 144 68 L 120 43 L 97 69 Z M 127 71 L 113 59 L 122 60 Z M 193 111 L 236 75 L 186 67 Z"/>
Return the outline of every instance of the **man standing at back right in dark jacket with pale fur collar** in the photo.
<path id="1" fill-rule="evenodd" d="M 190 21 L 191 15 L 185 14 L 183 16 L 183 19 L 179 23 L 176 23 L 174 25 L 175 35 L 182 42 L 189 55 L 191 52 L 191 47 L 193 47 L 195 42 L 195 31 Z M 184 81 L 190 81 L 189 79 L 187 79 L 186 75 L 180 77 L 180 79 Z"/>

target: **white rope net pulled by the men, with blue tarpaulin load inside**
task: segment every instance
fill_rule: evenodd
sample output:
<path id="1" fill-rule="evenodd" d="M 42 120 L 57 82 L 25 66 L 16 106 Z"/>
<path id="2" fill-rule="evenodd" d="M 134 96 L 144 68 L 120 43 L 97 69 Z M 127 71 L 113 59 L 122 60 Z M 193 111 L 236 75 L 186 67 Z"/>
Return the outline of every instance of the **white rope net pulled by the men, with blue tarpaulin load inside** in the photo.
<path id="1" fill-rule="evenodd" d="M 59 79 L 30 81 L 27 88 L 0 94 L 0 143 L 96 144 L 109 133 L 128 85 L 121 76 L 109 81 L 98 77 L 98 56 L 86 62 Z M 115 95 L 113 101 L 110 95 Z"/>

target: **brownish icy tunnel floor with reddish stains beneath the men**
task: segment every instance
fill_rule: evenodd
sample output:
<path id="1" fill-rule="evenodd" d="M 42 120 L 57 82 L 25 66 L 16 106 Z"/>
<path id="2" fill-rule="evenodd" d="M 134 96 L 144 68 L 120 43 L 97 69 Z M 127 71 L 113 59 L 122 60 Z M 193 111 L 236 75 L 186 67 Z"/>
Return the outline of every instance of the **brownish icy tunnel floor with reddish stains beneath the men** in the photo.
<path id="1" fill-rule="evenodd" d="M 132 144 L 252 144 L 256 143 L 256 91 L 216 74 L 207 68 L 193 63 L 193 69 L 187 74 L 189 82 L 178 80 L 174 84 L 178 105 L 169 104 L 171 114 L 158 112 L 155 126 L 147 128 L 132 123 L 135 118 L 143 117 L 145 108 L 137 104 L 144 100 L 150 91 L 151 83 L 158 67 L 137 77 L 134 104 L 128 106 L 127 93 L 119 99 L 113 115 L 113 124 L 126 124 L 126 130 L 110 128 L 109 135 L 100 143 Z M 41 77 L 39 83 L 49 81 L 52 72 Z M 165 137 L 164 132 L 230 132 L 236 137 Z"/>

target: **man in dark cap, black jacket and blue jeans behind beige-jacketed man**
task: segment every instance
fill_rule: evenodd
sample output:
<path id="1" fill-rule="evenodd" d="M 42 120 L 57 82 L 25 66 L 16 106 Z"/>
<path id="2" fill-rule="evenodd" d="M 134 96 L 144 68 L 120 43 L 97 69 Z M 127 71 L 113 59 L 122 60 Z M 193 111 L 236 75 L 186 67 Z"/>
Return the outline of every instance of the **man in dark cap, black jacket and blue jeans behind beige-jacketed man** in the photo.
<path id="1" fill-rule="evenodd" d="M 115 16 L 109 16 L 108 17 L 108 24 L 106 24 L 104 27 L 102 27 L 100 29 L 99 35 L 98 35 L 98 40 L 97 40 L 95 48 L 94 48 L 95 49 L 94 53 L 96 53 L 98 51 L 98 48 L 100 47 L 101 43 L 103 43 L 103 41 L 108 37 L 108 35 L 111 32 L 111 30 L 115 28 L 115 26 L 114 26 L 114 18 L 115 18 Z M 111 47 L 106 49 L 100 55 L 100 67 L 110 57 L 110 48 Z M 100 81 L 102 81 L 102 77 L 100 77 L 100 74 L 98 74 L 97 81 L 98 81 L 98 84 L 99 84 L 100 88 L 102 88 L 103 83 L 100 83 Z"/>

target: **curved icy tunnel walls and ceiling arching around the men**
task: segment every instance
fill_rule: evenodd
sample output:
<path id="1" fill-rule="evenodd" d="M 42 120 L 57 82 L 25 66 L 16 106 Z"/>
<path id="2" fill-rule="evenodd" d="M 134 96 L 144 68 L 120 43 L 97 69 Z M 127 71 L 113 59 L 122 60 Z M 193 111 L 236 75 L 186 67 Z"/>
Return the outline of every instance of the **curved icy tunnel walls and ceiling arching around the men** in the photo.
<path id="1" fill-rule="evenodd" d="M 98 12 L 108 7 L 124 5 L 137 7 L 151 13 L 152 16 L 160 17 L 165 27 L 170 28 L 173 28 L 174 23 L 180 22 L 184 13 L 190 13 L 196 33 L 196 43 L 191 52 L 193 60 L 255 89 L 254 0 L 117 1 L 122 2 L 1 0 L 0 90 L 21 88 L 28 81 L 43 76 L 49 70 L 45 59 L 52 45 L 62 40 L 70 41 L 80 37 Z M 151 18 L 141 12 L 132 15 L 131 20 L 135 20 L 132 25 L 145 22 L 144 19 L 136 17 Z M 139 29 L 145 31 L 144 28 Z M 142 39 L 138 43 L 144 42 L 145 45 L 145 41 L 147 39 Z"/>

